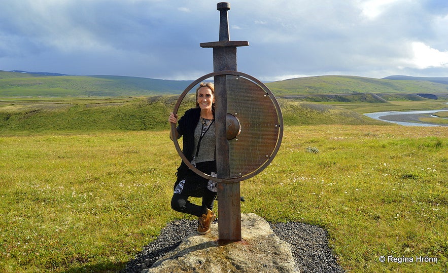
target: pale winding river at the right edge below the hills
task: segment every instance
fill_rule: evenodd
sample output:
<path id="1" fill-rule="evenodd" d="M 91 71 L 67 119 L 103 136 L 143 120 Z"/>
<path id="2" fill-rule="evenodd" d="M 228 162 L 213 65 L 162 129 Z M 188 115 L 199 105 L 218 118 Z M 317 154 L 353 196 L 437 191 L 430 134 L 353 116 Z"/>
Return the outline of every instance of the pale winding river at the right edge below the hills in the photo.
<path id="1" fill-rule="evenodd" d="M 422 123 L 419 120 L 419 117 L 422 114 L 432 114 L 436 112 L 448 111 L 448 109 L 442 110 L 425 110 L 425 111 L 404 111 L 404 112 L 376 112 L 376 113 L 365 113 L 364 115 L 369 118 L 378 120 L 396 123 L 404 126 L 448 126 L 446 124 L 430 124 L 430 123 Z"/>

